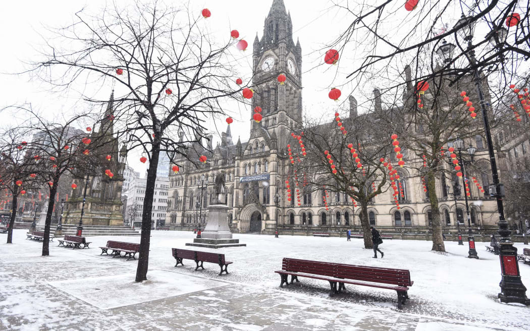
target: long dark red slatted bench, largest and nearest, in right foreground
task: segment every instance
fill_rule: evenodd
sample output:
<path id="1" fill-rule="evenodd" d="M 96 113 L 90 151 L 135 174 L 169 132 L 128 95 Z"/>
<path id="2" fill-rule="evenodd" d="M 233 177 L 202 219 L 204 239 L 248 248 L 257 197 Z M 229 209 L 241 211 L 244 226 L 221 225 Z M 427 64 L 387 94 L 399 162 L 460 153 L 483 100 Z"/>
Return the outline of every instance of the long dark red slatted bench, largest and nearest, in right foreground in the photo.
<path id="1" fill-rule="evenodd" d="M 395 290 L 398 292 L 398 308 L 407 302 L 408 290 L 414 283 L 410 280 L 410 272 L 404 269 L 390 269 L 343 263 L 330 263 L 299 260 L 284 257 L 280 274 L 280 287 L 289 285 L 287 280 L 291 275 L 291 284 L 298 281 L 298 276 L 329 281 L 331 293 L 339 293 L 346 289 L 345 284 L 363 285 L 368 287 Z M 339 288 L 337 289 L 337 283 Z"/>

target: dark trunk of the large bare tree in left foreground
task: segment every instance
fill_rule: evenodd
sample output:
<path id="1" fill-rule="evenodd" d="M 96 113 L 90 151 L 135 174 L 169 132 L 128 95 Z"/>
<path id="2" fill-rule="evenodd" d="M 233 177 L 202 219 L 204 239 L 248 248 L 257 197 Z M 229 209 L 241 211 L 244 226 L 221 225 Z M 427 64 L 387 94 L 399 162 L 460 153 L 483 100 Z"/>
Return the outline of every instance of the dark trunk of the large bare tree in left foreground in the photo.
<path id="1" fill-rule="evenodd" d="M 147 169 L 145 184 L 144 210 L 142 211 L 142 235 L 140 238 L 140 252 L 138 253 L 138 267 L 136 268 L 136 281 L 147 280 L 149 266 L 149 240 L 151 239 L 151 214 L 153 209 L 153 196 L 155 194 L 156 168 L 158 167 L 158 154 L 160 153 L 160 138 L 153 142 L 151 162 Z"/>

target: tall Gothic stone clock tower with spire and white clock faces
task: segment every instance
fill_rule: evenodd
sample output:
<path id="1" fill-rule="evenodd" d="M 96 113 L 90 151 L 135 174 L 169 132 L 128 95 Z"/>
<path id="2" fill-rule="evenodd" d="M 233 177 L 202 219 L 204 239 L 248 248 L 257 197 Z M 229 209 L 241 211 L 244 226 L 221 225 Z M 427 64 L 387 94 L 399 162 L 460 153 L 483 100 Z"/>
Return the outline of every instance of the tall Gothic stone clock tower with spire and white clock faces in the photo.
<path id="1" fill-rule="evenodd" d="M 285 10 L 283 0 L 273 0 L 269 15 L 265 19 L 261 40 L 256 35 L 253 47 L 255 106 L 262 109 L 261 126 L 269 134 L 275 132 L 278 148 L 285 149 L 291 129 L 302 120 L 302 48 L 293 41 L 291 15 Z M 280 84 L 278 75 L 284 74 L 285 84 Z M 255 126 L 253 125 L 254 129 Z"/>

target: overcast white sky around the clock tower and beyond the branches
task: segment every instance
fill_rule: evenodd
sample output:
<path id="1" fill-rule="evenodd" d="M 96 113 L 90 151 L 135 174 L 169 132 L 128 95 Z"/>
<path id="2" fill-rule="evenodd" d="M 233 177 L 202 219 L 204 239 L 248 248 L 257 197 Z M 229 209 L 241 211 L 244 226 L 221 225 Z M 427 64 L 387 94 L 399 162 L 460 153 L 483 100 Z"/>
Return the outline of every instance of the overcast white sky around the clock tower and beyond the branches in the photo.
<path id="1" fill-rule="evenodd" d="M 178 2 L 179 0 L 171 1 L 175 5 Z M 334 3 L 345 5 L 347 2 L 347 0 L 284 0 L 286 9 L 290 11 L 293 20 L 293 39 L 296 42 L 299 38 L 302 45 L 302 85 L 304 88 L 302 96 L 305 115 L 320 116 L 322 113 L 329 112 L 331 118 L 338 107 L 346 108 L 347 96 L 352 91 L 355 91 L 354 95 L 359 104 L 363 105 L 367 97 L 360 94 L 369 95 L 376 87 L 374 83 L 363 83 L 359 86 L 349 83 L 341 87 L 341 102 L 345 104 L 337 104 L 328 99 L 330 87 L 344 84 L 347 74 L 364 57 L 364 55 L 361 57 L 362 51 L 350 48 L 341 53 L 341 60 L 337 66 L 322 63 L 324 51 L 321 49 L 325 47 L 325 44 L 337 38 L 351 23 L 351 14 L 334 6 Z M 74 107 L 86 108 L 86 105 L 80 101 L 80 94 L 77 91 L 70 90 L 52 94 L 48 92 L 49 85 L 45 82 L 32 81 L 29 75 L 17 76 L 8 73 L 24 70 L 24 61 L 40 59 L 39 49 L 44 43 L 43 38 L 47 37 L 47 32 L 42 29 L 42 26 L 66 26 L 72 23 L 76 11 L 85 7 L 91 13 L 97 13 L 106 3 L 110 2 L 104 0 L 4 1 L 0 13 L 0 40 L 3 46 L 3 51 L 0 52 L 0 108 L 31 102 L 33 108 L 50 116 L 66 112 Z M 123 5 L 128 2 L 116 0 L 116 3 Z M 403 22 L 407 22 L 409 17 L 407 15 L 413 15 L 403 10 L 403 3 L 393 3 L 394 8 L 391 9 L 395 9 L 395 12 L 390 10 L 386 13 L 390 16 L 391 25 L 395 25 L 395 28 L 389 25 L 391 34 L 397 33 L 398 26 L 407 28 Z M 211 17 L 206 20 L 205 24 L 209 25 L 212 33 L 219 34 L 220 39 L 222 37 L 220 34 L 228 36 L 230 30 L 237 29 L 240 32 L 240 38 L 248 41 L 249 48 L 241 54 L 240 63 L 242 73 L 246 72 L 247 77 L 250 77 L 252 42 L 256 33 L 260 38 L 262 37 L 263 22 L 269 13 L 271 4 L 272 0 L 192 0 L 190 8 L 197 13 L 200 13 L 202 8 L 209 8 Z M 455 12 L 451 16 L 452 21 L 447 23 L 452 26 L 460 15 Z M 103 86 L 101 93 L 109 95 L 110 90 L 111 86 Z M 250 128 L 248 120 L 250 109 L 241 107 L 229 109 L 229 111 L 235 120 L 231 126 L 234 140 L 237 140 L 237 136 L 241 136 L 242 141 L 247 140 Z M 6 124 L 13 119 L 6 113 L 0 113 L 0 120 L 2 124 Z M 224 121 L 221 127 L 225 128 Z M 138 155 L 129 155 L 129 164 L 136 171 L 144 174 L 146 165 L 139 163 L 138 159 Z"/>

